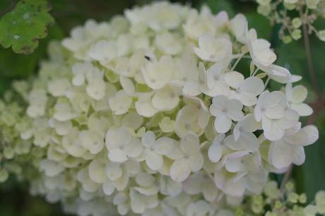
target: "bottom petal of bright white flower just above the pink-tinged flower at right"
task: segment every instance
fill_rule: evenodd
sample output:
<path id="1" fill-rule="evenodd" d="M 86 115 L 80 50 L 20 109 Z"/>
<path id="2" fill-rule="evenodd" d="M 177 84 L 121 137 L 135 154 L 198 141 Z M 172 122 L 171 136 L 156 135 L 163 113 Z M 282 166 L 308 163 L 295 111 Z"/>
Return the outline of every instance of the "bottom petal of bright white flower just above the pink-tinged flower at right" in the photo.
<path id="1" fill-rule="evenodd" d="M 285 132 L 283 128 L 280 128 L 276 124 L 275 121 L 268 119 L 266 116 L 263 116 L 262 128 L 264 130 L 265 138 L 271 141 L 280 140 Z"/>

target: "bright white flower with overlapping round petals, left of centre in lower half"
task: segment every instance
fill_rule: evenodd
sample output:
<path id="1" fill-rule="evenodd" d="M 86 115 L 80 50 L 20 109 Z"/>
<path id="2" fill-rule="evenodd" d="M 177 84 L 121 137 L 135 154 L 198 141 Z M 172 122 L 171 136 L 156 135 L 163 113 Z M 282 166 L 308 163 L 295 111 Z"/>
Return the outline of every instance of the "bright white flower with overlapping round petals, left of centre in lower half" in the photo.
<path id="1" fill-rule="evenodd" d="M 141 140 L 134 138 L 126 127 L 112 127 L 106 133 L 108 158 L 112 162 L 126 162 L 129 157 L 138 157 L 143 151 Z"/>

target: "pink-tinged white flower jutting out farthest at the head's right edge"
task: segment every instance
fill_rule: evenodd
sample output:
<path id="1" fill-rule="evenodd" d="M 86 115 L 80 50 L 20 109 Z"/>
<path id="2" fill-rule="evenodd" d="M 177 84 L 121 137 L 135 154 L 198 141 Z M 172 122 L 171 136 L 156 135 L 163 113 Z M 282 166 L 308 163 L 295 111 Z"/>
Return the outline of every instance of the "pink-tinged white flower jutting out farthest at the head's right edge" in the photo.
<path id="1" fill-rule="evenodd" d="M 282 139 L 271 143 L 268 160 L 276 169 L 289 167 L 291 163 L 301 165 L 305 162 L 303 147 L 311 145 L 318 138 L 319 132 L 315 126 L 297 127 Z"/>

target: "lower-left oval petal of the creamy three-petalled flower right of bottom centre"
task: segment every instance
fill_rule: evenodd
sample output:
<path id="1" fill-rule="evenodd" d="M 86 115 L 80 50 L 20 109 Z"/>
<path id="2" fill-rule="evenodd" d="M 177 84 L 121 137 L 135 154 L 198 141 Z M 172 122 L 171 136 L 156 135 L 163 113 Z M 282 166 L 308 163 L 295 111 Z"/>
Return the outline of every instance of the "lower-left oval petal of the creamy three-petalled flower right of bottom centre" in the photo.
<path id="1" fill-rule="evenodd" d="M 191 174 L 191 167 L 186 159 L 175 160 L 170 167 L 170 177 L 172 180 L 182 182 Z"/>

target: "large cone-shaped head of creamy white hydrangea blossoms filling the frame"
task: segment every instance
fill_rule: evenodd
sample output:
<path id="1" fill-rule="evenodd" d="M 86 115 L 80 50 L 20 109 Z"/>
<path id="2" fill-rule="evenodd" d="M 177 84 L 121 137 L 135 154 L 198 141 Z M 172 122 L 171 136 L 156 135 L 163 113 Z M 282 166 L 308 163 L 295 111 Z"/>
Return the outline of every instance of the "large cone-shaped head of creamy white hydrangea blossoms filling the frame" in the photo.
<path id="1" fill-rule="evenodd" d="M 164 1 L 74 28 L 28 92 L 20 138 L 46 152 L 32 194 L 82 216 L 231 216 L 318 138 L 270 45 L 242 14 Z"/>

